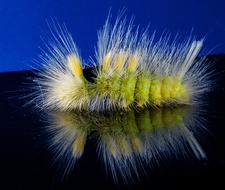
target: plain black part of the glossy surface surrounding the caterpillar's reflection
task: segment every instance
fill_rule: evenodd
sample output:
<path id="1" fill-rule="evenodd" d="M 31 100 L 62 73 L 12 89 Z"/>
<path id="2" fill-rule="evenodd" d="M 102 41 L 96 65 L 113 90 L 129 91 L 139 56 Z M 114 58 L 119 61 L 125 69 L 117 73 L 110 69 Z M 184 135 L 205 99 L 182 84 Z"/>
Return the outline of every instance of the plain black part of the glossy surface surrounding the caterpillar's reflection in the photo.
<path id="1" fill-rule="evenodd" d="M 183 189 L 225 188 L 225 56 L 211 56 L 217 83 L 208 96 L 207 130 L 200 143 L 207 160 L 169 159 L 132 185 L 115 184 L 90 140 L 74 171 L 60 178 L 48 150 L 43 113 L 24 107 L 30 71 L 0 74 L 0 189 Z M 89 75 L 89 71 L 86 71 Z M 121 180 L 122 181 L 122 180 Z"/>

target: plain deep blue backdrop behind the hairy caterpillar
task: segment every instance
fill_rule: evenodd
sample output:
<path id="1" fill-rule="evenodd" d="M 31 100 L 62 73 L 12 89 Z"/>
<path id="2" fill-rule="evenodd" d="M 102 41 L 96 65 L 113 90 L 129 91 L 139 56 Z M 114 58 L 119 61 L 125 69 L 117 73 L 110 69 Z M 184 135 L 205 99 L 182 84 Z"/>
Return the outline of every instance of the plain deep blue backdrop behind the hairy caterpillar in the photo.
<path id="1" fill-rule="evenodd" d="M 182 35 L 205 37 L 202 54 L 225 53 L 225 1 L 223 0 L 8 0 L 0 1 L 0 71 L 29 69 L 40 53 L 46 20 L 65 22 L 82 57 L 94 55 L 97 30 L 109 10 L 116 17 L 126 8 L 135 24 Z"/>

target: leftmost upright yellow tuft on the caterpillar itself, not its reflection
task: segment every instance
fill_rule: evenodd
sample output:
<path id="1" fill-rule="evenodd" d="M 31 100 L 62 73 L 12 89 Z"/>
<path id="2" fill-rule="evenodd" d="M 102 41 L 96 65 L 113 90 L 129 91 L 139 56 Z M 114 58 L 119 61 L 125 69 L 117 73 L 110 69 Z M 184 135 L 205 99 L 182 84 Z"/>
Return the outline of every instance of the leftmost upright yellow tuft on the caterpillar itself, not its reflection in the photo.
<path id="1" fill-rule="evenodd" d="M 67 56 L 67 63 L 74 76 L 80 77 L 83 75 L 81 61 L 75 54 Z"/>

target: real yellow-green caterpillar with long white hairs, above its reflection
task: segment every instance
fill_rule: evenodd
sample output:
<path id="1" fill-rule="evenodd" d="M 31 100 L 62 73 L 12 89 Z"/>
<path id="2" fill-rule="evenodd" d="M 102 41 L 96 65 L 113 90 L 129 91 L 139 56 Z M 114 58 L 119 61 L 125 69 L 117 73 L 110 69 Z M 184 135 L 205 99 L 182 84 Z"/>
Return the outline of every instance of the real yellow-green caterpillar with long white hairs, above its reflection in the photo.
<path id="1" fill-rule="evenodd" d="M 126 19 L 110 18 L 98 33 L 96 60 L 85 64 L 66 27 L 51 29 L 47 51 L 37 70 L 32 102 L 49 110 L 129 110 L 146 106 L 190 105 L 211 87 L 210 64 L 197 59 L 204 39 L 170 43 L 170 35 L 138 28 Z M 84 68 L 93 66 L 92 77 Z M 91 67 L 90 66 L 90 67 Z"/>

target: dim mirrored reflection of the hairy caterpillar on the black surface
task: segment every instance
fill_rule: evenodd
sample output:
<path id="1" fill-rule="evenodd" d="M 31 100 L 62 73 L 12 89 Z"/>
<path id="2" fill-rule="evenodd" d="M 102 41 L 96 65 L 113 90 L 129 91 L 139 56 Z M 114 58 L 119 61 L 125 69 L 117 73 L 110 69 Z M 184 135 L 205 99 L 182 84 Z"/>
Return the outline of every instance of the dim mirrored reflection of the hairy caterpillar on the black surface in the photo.
<path id="1" fill-rule="evenodd" d="M 197 158 L 205 158 L 193 135 L 196 114 L 187 106 L 113 114 L 55 112 L 50 114 L 50 145 L 67 174 L 85 152 L 88 137 L 97 136 L 98 154 L 108 172 L 115 180 L 118 175 L 128 180 L 138 177 L 142 164 L 154 165 L 167 156 L 186 157 L 188 148 Z"/>

